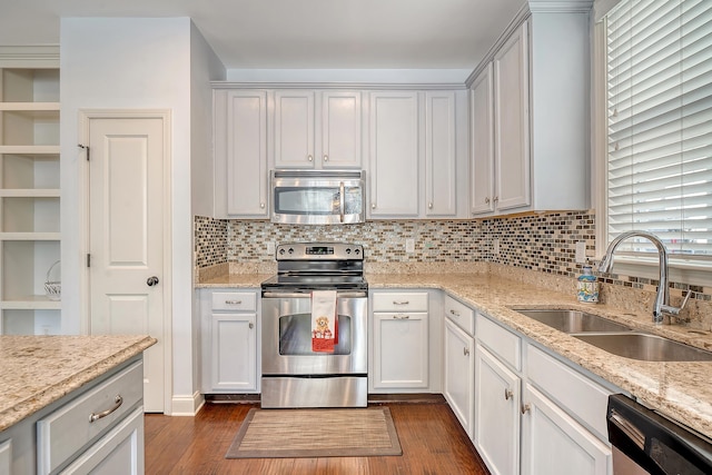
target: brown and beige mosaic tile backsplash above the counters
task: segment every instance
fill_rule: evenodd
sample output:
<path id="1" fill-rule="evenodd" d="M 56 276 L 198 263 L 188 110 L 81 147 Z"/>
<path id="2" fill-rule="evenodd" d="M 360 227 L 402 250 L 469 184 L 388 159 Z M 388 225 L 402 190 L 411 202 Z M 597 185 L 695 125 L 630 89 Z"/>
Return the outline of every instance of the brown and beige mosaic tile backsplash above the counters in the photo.
<path id="1" fill-rule="evenodd" d="M 406 253 L 406 239 L 415 251 Z M 551 276 L 575 278 L 575 245 L 585 241 L 595 254 L 592 211 L 530 214 L 478 220 L 368 221 L 349 226 L 289 226 L 259 220 L 195 218 L 195 264 L 264 265 L 274 263 L 267 244 L 289 241 L 353 241 L 366 249 L 368 263 L 459 264 L 491 263 Z M 498 253 L 495 253 L 498 250 Z M 466 271 L 466 267 L 463 267 Z M 613 287 L 654 290 L 656 280 L 611 275 L 600 278 Z M 694 299 L 710 301 L 712 289 L 673 283 L 692 290 Z"/>

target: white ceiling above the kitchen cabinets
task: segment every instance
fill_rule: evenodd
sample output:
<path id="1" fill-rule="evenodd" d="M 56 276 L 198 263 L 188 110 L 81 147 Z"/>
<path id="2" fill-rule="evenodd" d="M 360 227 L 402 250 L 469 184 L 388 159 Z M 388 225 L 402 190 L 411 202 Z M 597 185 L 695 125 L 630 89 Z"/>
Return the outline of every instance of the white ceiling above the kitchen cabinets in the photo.
<path id="1" fill-rule="evenodd" d="M 472 69 L 524 0 L 0 0 L 0 46 L 62 17 L 190 17 L 228 69 Z"/>

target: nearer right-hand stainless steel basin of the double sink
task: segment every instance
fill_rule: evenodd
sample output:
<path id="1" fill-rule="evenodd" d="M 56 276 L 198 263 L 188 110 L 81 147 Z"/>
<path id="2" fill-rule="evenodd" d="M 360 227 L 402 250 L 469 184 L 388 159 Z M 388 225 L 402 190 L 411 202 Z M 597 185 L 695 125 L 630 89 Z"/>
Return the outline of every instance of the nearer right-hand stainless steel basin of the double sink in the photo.
<path id="1" fill-rule="evenodd" d="M 643 362 L 712 362 L 712 353 L 637 331 L 572 335 L 604 352 Z"/>

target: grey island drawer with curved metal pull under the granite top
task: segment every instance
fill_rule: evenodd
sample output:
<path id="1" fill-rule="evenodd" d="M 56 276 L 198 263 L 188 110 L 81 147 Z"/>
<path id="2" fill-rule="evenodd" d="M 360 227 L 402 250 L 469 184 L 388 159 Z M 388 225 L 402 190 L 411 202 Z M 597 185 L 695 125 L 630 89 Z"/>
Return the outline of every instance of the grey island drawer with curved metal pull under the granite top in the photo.
<path id="1" fill-rule="evenodd" d="M 121 404 L 117 397 L 121 397 Z M 50 473 L 87 443 L 116 425 L 144 398 L 144 364 L 136 362 L 116 376 L 70 400 L 37 423 L 39 473 Z M 117 407 L 118 406 L 118 407 Z M 115 410 L 111 410 L 115 409 Z M 91 422 L 91 415 L 108 413 Z"/>

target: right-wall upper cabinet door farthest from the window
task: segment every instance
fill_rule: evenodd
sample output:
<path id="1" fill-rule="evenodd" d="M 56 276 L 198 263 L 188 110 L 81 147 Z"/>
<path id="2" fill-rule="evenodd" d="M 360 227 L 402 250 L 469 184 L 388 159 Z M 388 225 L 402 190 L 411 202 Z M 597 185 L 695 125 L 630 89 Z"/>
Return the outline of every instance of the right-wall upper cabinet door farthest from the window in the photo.
<path id="1" fill-rule="evenodd" d="M 494 210 L 494 110 L 492 63 L 472 85 L 469 206 L 473 215 Z"/>

